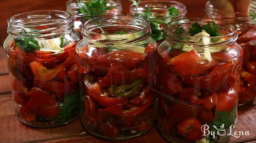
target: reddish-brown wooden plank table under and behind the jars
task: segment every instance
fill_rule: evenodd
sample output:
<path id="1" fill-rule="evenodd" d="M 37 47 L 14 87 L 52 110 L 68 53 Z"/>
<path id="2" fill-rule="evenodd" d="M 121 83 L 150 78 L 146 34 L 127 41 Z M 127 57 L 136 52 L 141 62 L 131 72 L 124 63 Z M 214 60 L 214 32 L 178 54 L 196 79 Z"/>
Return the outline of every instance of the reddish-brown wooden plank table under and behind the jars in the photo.
<path id="1" fill-rule="evenodd" d="M 26 3 L 29 1 L 33 3 L 33 5 L 26 5 L 26 11 L 35 10 L 35 8 L 37 8 L 36 10 L 40 10 L 42 8 L 45 9 L 46 7 L 47 9 L 53 9 L 53 6 L 55 7 L 56 5 L 48 5 L 47 3 L 49 1 L 52 1 L 56 4 L 61 3 L 62 5 L 64 3 L 63 0 L 44 0 L 45 3 L 41 0 L 21 0 L 15 2 L 12 0 L 5 0 L 0 2 L 0 5 L 1 3 L 6 3 L 6 6 L 8 5 L 7 7 L 12 6 L 10 3 L 16 3 L 16 5 L 24 5 L 24 1 L 26 1 Z M 204 4 L 206 3 L 206 0 L 178 1 L 186 4 L 188 9 L 188 14 L 186 15 L 187 17 L 204 16 Z M 55 9 L 65 9 L 64 5 L 59 6 L 58 4 Z M 128 0 L 122 0 L 122 4 L 124 6 L 123 13 L 128 14 L 128 5 L 130 3 Z M 3 12 L 4 11 L 5 10 L 3 10 Z M 23 9 L 17 9 L 16 13 L 23 11 L 24 7 Z M 3 28 L 3 25 L 4 24 L 1 24 L 1 28 L 5 31 L 6 28 Z M 2 29 L 1 33 L 3 33 Z M 6 37 L 5 35 L 6 34 L 1 34 L 1 36 L 3 36 L 0 36 L 1 43 L 3 38 Z M 120 143 L 120 141 L 101 140 L 99 138 L 93 137 L 92 135 L 88 135 L 82 127 L 81 121 L 79 119 L 66 126 L 61 126 L 54 129 L 35 129 L 24 126 L 16 118 L 13 108 L 11 91 L 12 89 L 9 81 L 5 52 L 3 47 L 0 47 L 0 143 Z M 229 143 L 256 143 L 256 103 L 253 105 L 239 107 L 238 113 L 239 118 L 236 124 L 236 131 L 249 131 L 250 135 L 243 135 L 239 138 L 231 137 Z M 154 127 L 145 135 L 132 140 L 122 141 L 122 143 L 168 143 L 168 141 L 163 138 L 157 129 L 157 125 L 155 124 Z"/>

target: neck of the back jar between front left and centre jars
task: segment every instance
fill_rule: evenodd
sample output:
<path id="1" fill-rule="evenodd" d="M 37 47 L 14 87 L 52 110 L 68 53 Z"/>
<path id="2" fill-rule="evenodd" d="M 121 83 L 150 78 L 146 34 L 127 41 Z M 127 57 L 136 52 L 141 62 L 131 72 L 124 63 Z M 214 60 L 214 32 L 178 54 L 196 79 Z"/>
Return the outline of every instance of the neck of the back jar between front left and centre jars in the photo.
<path id="1" fill-rule="evenodd" d="M 102 7 L 90 6 L 90 0 L 68 0 L 67 12 L 73 18 L 81 18 L 84 21 L 104 15 L 118 15 L 122 13 L 121 0 L 105 0 Z"/>

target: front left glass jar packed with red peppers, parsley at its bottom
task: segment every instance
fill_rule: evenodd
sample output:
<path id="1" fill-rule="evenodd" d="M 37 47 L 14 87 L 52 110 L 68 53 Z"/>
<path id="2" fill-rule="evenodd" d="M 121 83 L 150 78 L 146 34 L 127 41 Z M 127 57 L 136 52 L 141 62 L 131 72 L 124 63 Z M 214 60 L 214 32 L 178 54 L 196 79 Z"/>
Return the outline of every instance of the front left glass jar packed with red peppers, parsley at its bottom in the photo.
<path id="1" fill-rule="evenodd" d="M 21 123 L 44 128 L 79 118 L 79 34 L 73 27 L 65 11 L 32 11 L 8 20 L 4 48 Z"/>

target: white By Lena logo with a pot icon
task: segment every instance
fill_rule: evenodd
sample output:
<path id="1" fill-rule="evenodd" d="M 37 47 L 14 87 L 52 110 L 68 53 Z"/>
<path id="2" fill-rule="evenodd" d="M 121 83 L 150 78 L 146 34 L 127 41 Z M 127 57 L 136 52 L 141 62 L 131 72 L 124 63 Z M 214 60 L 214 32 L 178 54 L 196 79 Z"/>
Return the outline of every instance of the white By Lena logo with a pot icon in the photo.
<path id="1" fill-rule="evenodd" d="M 235 129 L 235 125 L 231 125 L 229 127 L 229 129 L 224 129 L 224 125 L 225 124 L 222 124 L 221 126 L 217 127 L 217 126 L 214 126 L 213 127 L 217 130 L 217 133 L 215 131 L 210 131 L 209 130 L 209 125 L 205 124 L 203 126 L 201 126 L 201 130 L 202 132 L 204 133 L 203 136 L 205 137 L 209 137 L 209 135 L 212 136 L 212 138 L 214 139 L 215 138 L 215 135 L 219 135 L 219 136 L 224 136 L 224 135 L 228 135 L 228 136 L 233 136 L 233 137 L 241 137 L 241 135 L 250 135 L 249 131 L 233 131 L 233 129 Z"/>

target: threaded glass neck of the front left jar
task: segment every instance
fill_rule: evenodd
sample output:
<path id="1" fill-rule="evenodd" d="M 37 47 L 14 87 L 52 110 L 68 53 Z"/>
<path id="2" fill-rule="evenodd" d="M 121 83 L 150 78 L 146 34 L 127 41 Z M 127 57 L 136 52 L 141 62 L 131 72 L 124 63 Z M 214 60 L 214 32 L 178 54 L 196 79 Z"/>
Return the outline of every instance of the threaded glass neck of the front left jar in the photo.
<path id="1" fill-rule="evenodd" d="M 31 11 L 8 20 L 8 34 L 20 37 L 54 38 L 71 33 L 71 14 L 65 11 Z"/>

